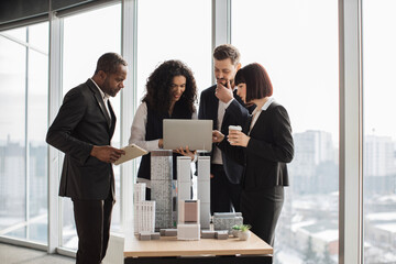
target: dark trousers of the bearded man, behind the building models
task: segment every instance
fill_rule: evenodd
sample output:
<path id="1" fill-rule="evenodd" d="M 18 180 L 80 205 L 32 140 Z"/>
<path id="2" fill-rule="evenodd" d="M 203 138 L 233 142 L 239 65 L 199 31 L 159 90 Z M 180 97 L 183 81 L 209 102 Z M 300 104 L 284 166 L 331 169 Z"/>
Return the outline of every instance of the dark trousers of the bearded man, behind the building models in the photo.
<path id="1" fill-rule="evenodd" d="M 213 178 L 210 179 L 210 212 L 239 212 L 242 186 L 231 184 L 222 165 L 212 164 Z"/>

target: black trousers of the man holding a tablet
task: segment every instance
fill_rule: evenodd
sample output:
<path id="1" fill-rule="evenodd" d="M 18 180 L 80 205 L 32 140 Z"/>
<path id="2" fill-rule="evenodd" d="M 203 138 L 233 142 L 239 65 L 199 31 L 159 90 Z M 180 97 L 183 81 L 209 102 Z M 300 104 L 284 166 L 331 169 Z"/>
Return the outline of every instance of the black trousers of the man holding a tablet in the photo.
<path id="1" fill-rule="evenodd" d="M 106 255 L 110 238 L 111 193 L 106 200 L 73 199 L 78 234 L 77 264 L 99 264 Z"/>

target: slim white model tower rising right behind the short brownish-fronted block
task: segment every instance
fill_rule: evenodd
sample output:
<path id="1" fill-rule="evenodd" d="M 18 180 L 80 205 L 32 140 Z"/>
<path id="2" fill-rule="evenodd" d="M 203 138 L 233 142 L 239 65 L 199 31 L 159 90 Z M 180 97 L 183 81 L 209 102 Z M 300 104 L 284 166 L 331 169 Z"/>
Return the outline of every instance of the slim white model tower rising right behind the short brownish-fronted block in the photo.
<path id="1" fill-rule="evenodd" d="M 191 158 L 188 156 L 177 157 L 177 199 L 191 199 Z"/>

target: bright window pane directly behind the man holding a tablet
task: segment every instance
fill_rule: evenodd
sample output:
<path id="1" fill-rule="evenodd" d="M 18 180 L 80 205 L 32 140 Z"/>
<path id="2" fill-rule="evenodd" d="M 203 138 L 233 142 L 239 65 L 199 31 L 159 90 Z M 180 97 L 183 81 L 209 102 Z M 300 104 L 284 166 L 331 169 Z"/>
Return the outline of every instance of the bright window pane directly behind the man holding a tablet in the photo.
<path id="1" fill-rule="evenodd" d="M 64 19 L 63 95 L 94 76 L 98 58 L 108 52 L 121 54 L 121 4 L 116 4 Z M 128 78 L 128 77 L 127 77 Z M 124 89 L 132 89 L 125 87 Z M 120 147 L 120 94 L 110 98 L 118 118 L 111 145 Z M 120 230 L 120 167 L 113 166 L 117 202 L 112 212 L 112 231 Z M 76 250 L 77 232 L 70 199 L 63 200 L 62 246 Z"/>

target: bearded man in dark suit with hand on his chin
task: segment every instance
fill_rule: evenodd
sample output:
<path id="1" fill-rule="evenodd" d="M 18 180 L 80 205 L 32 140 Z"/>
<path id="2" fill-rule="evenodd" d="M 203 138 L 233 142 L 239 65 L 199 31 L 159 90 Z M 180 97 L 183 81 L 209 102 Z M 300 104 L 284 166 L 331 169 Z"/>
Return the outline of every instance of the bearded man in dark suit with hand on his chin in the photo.
<path id="1" fill-rule="evenodd" d="M 198 119 L 213 120 L 213 130 L 220 130 L 228 134 L 228 125 L 244 123 L 243 118 L 224 114 L 228 102 L 219 101 L 217 90 L 227 87 L 232 94 L 233 80 L 237 72 L 241 68 L 240 53 L 237 47 L 224 44 L 215 48 L 215 76 L 217 84 L 201 92 L 199 100 Z M 230 99 L 242 100 L 233 91 Z M 224 91 L 226 94 L 226 91 Z M 248 110 L 246 110 L 248 112 Z M 248 114 L 246 114 L 248 116 Z M 242 120 L 241 120 L 242 119 Z M 210 211 L 230 212 L 232 208 L 240 211 L 241 177 L 243 166 L 228 158 L 216 145 L 211 152 L 210 166 Z"/>

